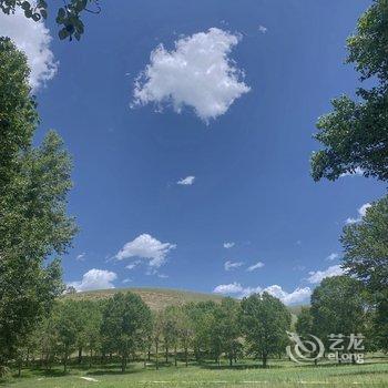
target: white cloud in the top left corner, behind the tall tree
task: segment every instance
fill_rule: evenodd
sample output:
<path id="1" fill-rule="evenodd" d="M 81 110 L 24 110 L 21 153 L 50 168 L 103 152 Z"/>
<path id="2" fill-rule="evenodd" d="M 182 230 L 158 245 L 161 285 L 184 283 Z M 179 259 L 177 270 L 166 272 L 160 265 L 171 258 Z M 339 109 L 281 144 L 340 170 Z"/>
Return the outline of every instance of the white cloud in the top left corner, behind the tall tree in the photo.
<path id="1" fill-rule="evenodd" d="M 58 62 L 50 50 L 50 31 L 42 21 L 27 19 L 20 10 L 9 16 L 0 12 L 0 35 L 9 37 L 25 53 L 33 92 L 55 75 Z"/>

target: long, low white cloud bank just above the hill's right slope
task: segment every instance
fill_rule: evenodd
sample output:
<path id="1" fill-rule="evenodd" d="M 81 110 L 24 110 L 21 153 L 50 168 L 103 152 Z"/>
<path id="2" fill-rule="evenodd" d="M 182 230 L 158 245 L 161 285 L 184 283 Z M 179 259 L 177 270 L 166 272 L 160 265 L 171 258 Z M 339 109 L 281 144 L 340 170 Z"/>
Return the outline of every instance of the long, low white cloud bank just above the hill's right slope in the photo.
<path id="1" fill-rule="evenodd" d="M 239 283 L 222 284 L 213 289 L 215 294 L 223 295 L 236 295 L 238 298 L 247 297 L 252 294 L 268 293 L 279 298 L 285 305 L 292 305 L 295 303 L 306 302 L 310 295 L 312 289 L 309 287 L 296 288 L 292 293 L 285 292 L 280 286 L 274 284 L 266 288 L 262 287 L 243 287 Z"/>

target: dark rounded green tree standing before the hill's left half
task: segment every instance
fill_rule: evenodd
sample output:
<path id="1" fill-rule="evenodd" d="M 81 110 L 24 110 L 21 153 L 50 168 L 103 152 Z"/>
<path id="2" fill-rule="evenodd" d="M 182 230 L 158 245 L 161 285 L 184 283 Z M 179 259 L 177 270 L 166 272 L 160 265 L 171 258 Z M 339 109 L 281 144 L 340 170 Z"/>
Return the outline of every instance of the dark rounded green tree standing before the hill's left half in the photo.
<path id="1" fill-rule="evenodd" d="M 139 335 L 145 335 L 151 321 L 151 310 L 139 295 L 118 293 L 106 302 L 102 313 L 101 334 L 110 349 L 121 356 L 125 371 L 129 355 L 139 347 Z"/>

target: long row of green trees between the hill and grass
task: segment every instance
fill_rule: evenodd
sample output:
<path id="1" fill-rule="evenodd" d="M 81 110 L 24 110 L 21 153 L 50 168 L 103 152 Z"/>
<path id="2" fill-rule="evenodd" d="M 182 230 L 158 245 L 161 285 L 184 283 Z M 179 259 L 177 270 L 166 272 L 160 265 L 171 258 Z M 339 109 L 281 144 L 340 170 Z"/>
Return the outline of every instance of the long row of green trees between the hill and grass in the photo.
<path id="1" fill-rule="evenodd" d="M 229 366 L 245 358 L 282 358 L 289 345 L 288 330 L 310 334 L 330 346 L 330 335 L 365 336 L 365 351 L 388 351 L 386 312 L 368 302 L 363 283 L 349 276 L 326 278 L 314 290 L 310 306 L 296 321 L 276 297 L 263 293 L 242 300 L 225 297 L 221 303 L 201 302 L 167 306 L 152 312 L 131 292 L 105 300 L 64 297 L 18 349 L 16 365 L 34 363 L 50 369 L 69 360 L 104 365 L 120 360 L 122 371 L 131 360 L 188 366 L 222 359 Z M 354 360 L 355 361 L 355 360 Z"/>

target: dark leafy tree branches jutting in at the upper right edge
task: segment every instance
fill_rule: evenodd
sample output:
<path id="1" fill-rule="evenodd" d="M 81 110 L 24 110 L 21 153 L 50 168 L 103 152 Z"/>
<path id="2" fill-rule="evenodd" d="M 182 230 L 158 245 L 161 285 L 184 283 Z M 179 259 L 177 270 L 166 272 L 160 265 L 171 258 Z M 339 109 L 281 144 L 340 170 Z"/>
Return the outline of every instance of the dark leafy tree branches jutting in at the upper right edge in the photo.
<path id="1" fill-rule="evenodd" d="M 360 169 L 365 176 L 388 180 L 388 0 L 375 0 L 360 17 L 357 33 L 347 40 L 348 63 L 360 80 L 377 82 L 358 89 L 357 101 L 343 95 L 333 100 L 333 112 L 317 122 L 315 135 L 324 150 L 312 157 L 312 175 L 336 180 Z"/>

